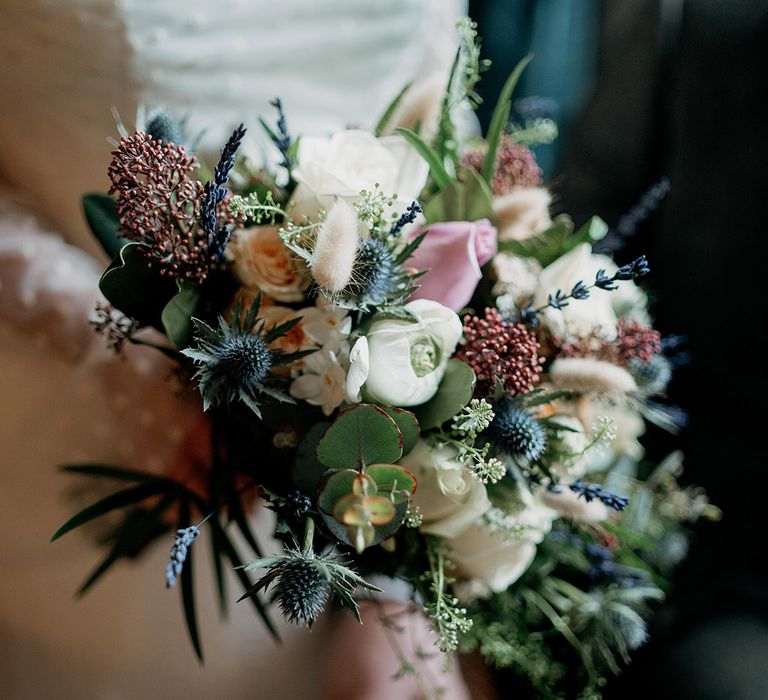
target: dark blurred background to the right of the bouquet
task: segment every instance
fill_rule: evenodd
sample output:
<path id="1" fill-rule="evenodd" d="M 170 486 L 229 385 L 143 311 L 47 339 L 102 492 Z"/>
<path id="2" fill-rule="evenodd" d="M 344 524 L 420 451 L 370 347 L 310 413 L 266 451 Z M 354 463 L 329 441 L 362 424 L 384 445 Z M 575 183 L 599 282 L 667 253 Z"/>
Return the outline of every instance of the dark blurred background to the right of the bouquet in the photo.
<path id="1" fill-rule="evenodd" d="M 537 152 L 556 211 L 622 232 L 619 260 L 649 257 L 656 325 L 687 339 L 670 400 L 689 425 L 671 440 L 649 432 L 648 456 L 681 447 L 684 480 L 724 511 L 696 528 L 651 641 L 607 697 L 766 698 L 768 3 L 476 0 L 470 14 L 493 62 L 483 125 L 534 53 L 517 111 L 558 122 L 557 142 Z M 647 219 L 626 217 L 649 190 Z"/>

